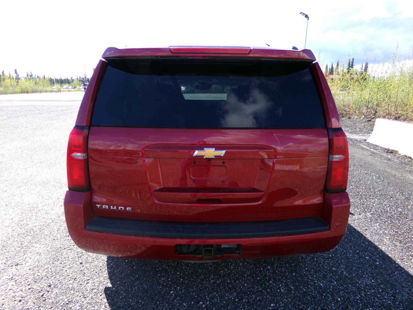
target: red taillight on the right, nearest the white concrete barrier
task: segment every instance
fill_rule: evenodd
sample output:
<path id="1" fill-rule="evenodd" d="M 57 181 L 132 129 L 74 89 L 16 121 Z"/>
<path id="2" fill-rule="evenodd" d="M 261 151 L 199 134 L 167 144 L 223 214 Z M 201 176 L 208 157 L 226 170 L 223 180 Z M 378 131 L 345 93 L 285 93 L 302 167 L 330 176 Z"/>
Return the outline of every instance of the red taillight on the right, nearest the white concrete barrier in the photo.
<path id="1" fill-rule="evenodd" d="M 349 177 L 349 145 L 341 128 L 328 129 L 328 170 L 325 182 L 330 193 L 346 191 Z"/>

